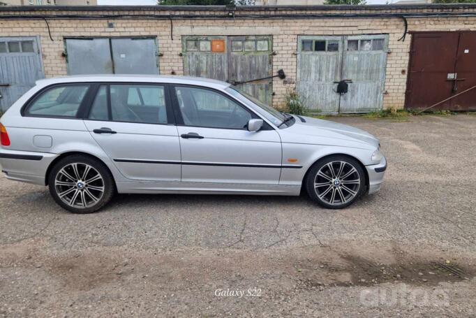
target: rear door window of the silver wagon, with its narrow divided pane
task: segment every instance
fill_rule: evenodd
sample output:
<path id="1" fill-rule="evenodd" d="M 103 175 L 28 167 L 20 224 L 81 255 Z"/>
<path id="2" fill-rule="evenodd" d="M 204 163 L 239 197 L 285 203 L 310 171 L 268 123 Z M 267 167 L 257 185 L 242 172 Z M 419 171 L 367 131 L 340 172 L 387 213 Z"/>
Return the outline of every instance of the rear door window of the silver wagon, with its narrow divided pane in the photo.
<path id="1" fill-rule="evenodd" d="M 161 85 L 110 85 L 110 114 L 107 103 L 107 86 L 101 85 L 89 119 L 167 124 L 165 88 Z"/>

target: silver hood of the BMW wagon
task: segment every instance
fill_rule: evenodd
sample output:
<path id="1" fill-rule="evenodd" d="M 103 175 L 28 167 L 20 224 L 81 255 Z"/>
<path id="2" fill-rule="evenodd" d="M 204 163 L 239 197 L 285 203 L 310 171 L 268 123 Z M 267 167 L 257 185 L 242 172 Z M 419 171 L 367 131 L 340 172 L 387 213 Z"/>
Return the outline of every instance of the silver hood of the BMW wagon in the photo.
<path id="1" fill-rule="evenodd" d="M 302 122 L 301 118 L 305 120 Z M 379 141 L 375 136 L 370 133 L 351 127 L 345 124 L 339 124 L 337 122 L 331 122 L 329 120 L 318 120 L 317 118 L 295 116 L 296 122 L 291 127 L 282 129 L 283 135 L 288 135 L 288 138 L 292 138 L 290 135 L 294 135 L 298 142 L 302 140 L 302 143 L 326 143 L 329 139 L 335 140 L 333 143 L 339 143 L 339 145 L 348 145 L 350 147 L 378 147 Z M 281 133 L 280 131 L 280 133 Z M 296 136 L 299 135 L 299 136 Z M 319 137 L 319 138 L 315 138 Z M 288 139 L 285 138 L 285 139 Z M 339 142 L 341 140 L 341 142 Z M 291 140 L 283 140 L 292 142 Z M 346 143 L 350 142 L 350 143 Z"/>

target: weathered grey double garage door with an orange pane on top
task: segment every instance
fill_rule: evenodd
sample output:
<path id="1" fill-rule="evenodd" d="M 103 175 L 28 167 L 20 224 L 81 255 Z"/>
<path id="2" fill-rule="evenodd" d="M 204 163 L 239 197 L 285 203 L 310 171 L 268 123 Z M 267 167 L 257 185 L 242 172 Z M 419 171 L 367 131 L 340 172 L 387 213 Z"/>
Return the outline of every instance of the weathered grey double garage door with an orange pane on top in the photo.
<path id="1" fill-rule="evenodd" d="M 185 75 L 213 78 L 230 83 L 272 75 L 271 36 L 184 36 Z M 238 86 L 269 105 L 272 79 Z"/>

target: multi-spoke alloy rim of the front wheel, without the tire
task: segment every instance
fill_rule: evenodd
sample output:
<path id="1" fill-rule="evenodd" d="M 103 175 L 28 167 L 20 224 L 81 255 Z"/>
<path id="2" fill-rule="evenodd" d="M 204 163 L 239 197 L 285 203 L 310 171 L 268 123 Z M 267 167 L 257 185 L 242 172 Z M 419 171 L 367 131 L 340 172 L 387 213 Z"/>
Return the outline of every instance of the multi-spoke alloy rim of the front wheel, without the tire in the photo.
<path id="1" fill-rule="evenodd" d="M 322 166 L 314 178 L 314 191 L 330 205 L 342 205 L 359 193 L 360 176 L 347 161 L 331 161 Z"/>

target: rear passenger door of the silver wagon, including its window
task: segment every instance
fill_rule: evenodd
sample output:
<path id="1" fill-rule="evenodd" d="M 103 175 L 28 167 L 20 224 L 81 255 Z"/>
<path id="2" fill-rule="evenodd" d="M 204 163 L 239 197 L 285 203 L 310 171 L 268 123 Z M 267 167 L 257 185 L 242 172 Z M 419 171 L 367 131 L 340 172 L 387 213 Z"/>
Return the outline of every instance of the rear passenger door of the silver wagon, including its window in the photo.
<path id="1" fill-rule="evenodd" d="M 180 147 L 167 87 L 100 85 L 84 124 L 122 175 L 180 181 Z"/>

